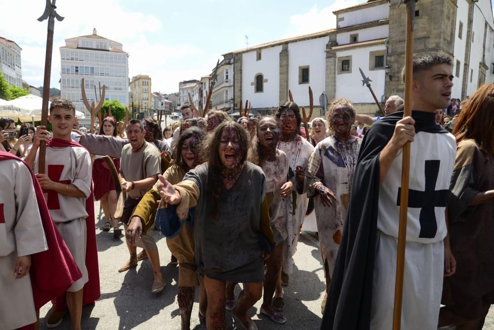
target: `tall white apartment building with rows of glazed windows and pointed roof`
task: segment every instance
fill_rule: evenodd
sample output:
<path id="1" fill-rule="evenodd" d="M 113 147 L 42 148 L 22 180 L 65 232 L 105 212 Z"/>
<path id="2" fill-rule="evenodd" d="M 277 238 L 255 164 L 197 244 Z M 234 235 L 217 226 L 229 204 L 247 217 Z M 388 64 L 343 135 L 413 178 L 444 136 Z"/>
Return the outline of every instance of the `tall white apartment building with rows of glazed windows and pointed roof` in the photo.
<path id="1" fill-rule="evenodd" d="M 122 44 L 99 36 L 96 29 L 87 36 L 65 39 L 60 47 L 61 96 L 74 102 L 86 119 L 79 121 L 88 126 L 90 114 L 82 102 L 81 79 L 89 102 L 99 100 L 99 85 L 106 86 L 105 100 L 116 99 L 124 106 L 128 100 L 128 59 Z M 96 87 L 96 94 L 94 88 Z"/>

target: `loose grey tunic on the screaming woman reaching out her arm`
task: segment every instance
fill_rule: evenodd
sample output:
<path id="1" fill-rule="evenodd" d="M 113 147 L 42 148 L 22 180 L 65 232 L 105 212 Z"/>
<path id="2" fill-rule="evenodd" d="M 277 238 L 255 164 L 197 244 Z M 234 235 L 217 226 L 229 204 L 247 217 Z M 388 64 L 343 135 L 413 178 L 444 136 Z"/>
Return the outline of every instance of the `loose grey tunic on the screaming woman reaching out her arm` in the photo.
<path id="1" fill-rule="evenodd" d="M 199 188 L 194 222 L 197 272 L 221 281 L 262 282 L 260 218 L 266 190 L 264 173 L 246 162 L 235 185 L 223 190 L 219 217 L 212 219 L 205 192 L 207 166 L 198 166 L 184 177 L 184 181 L 190 180 Z"/>

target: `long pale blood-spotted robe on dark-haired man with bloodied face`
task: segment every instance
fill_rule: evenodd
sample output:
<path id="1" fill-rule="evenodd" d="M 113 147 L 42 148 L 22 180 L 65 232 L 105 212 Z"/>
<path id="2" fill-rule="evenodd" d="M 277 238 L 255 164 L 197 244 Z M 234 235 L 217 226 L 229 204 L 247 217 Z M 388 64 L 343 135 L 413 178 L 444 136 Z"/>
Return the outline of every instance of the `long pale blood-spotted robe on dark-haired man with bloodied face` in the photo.
<path id="1" fill-rule="evenodd" d="M 295 171 L 301 166 L 307 171 L 309 158 L 314 147 L 301 136 L 293 141 L 278 142 L 278 149 L 284 151 L 288 157 L 288 177 L 293 183 L 290 197 L 283 199 L 285 218 L 287 219 L 287 240 L 283 247 L 283 271 L 292 273 L 293 255 L 297 250 L 300 226 L 305 218 L 309 198 L 307 197 L 307 180 L 298 182 Z"/>

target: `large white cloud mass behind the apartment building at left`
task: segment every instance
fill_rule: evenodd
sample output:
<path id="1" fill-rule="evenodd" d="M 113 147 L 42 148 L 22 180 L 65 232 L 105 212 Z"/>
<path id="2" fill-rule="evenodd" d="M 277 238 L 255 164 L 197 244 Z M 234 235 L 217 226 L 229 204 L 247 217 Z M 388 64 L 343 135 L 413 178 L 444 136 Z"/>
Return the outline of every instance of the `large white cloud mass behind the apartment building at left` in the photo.
<path id="1" fill-rule="evenodd" d="M 26 4 L 28 2 L 28 4 Z M 201 49 L 193 45 L 165 44 L 166 33 L 155 15 L 132 12 L 124 8 L 122 0 L 58 1 L 57 12 L 64 16 L 55 21 L 51 82 L 59 88 L 60 51 L 65 39 L 92 33 L 123 44 L 129 53 L 129 76 L 148 74 L 153 91 L 178 91 L 180 80 L 200 78 L 208 74 L 216 59 L 199 56 Z M 34 86 L 43 84 L 44 54 L 47 20 L 37 21 L 44 10 L 44 1 L 6 1 L 2 3 L 0 36 L 15 41 L 21 48 L 23 79 Z M 169 33 L 175 33 L 170 31 Z M 159 38 L 152 36 L 159 35 Z M 205 57 L 205 58 L 203 58 Z M 177 66 L 177 59 L 190 61 L 187 67 Z M 202 58 L 198 60 L 198 58 Z M 180 62 L 180 61 L 179 61 Z M 175 66 L 174 66 L 175 65 Z M 203 72 L 207 68 L 206 72 Z"/>

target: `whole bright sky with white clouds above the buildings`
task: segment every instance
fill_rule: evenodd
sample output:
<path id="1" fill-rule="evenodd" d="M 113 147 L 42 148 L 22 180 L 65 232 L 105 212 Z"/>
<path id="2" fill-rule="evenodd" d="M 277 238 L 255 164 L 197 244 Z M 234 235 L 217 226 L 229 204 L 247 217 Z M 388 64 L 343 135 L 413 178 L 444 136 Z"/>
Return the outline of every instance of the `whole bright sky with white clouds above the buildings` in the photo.
<path id="1" fill-rule="evenodd" d="M 57 0 L 65 17 L 55 23 L 51 87 L 60 88 L 59 47 L 64 39 L 98 34 L 124 45 L 129 76 L 148 74 L 154 92 L 178 91 L 178 82 L 211 72 L 221 54 L 335 26 L 333 10 L 365 0 Z M 0 36 L 22 47 L 23 79 L 43 81 L 44 0 L 2 4 Z"/>

